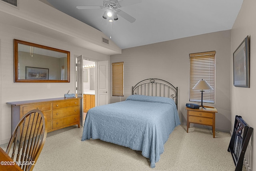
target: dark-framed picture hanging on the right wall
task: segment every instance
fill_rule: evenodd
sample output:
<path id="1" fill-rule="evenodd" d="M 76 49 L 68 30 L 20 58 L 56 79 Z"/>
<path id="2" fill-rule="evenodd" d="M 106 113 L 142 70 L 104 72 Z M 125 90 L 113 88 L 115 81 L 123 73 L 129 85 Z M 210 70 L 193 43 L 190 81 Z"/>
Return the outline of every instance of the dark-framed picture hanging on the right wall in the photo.
<path id="1" fill-rule="evenodd" d="M 250 87 L 249 36 L 242 41 L 233 53 L 234 86 Z"/>

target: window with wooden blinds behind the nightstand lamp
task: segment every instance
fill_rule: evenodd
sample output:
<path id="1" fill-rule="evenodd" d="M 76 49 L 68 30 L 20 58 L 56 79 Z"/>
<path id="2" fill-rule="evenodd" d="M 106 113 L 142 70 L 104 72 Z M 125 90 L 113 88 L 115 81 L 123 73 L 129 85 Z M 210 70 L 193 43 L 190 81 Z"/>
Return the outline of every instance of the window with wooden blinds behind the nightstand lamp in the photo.
<path id="1" fill-rule="evenodd" d="M 189 101 L 201 102 L 201 91 L 192 89 L 199 80 L 205 80 L 213 90 L 204 90 L 203 102 L 215 101 L 215 54 L 216 51 L 190 54 Z"/>

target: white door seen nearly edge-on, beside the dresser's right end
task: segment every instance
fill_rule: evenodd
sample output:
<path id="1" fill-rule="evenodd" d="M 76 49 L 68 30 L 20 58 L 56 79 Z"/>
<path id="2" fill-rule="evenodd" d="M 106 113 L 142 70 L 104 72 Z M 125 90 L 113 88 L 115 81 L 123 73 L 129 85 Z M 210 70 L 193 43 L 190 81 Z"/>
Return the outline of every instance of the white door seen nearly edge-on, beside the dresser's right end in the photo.
<path id="1" fill-rule="evenodd" d="M 83 110 L 83 56 L 76 57 L 76 80 L 77 80 L 77 97 L 82 97 L 80 100 L 80 125 L 84 125 L 84 110 Z"/>

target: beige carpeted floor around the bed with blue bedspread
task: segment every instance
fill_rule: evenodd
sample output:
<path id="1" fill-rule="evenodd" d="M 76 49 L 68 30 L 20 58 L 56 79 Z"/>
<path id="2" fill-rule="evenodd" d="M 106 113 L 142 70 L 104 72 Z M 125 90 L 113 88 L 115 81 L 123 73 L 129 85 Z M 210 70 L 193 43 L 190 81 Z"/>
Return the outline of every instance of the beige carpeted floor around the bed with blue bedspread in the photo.
<path id="1" fill-rule="evenodd" d="M 47 134 L 34 171 L 234 171 L 227 151 L 230 134 L 179 125 L 164 145 L 160 161 L 150 162 L 134 151 L 101 140 L 81 141 L 83 127 L 71 126 Z M 7 144 L 1 145 L 5 150 Z M 243 169 L 244 171 L 245 169 Z"/>

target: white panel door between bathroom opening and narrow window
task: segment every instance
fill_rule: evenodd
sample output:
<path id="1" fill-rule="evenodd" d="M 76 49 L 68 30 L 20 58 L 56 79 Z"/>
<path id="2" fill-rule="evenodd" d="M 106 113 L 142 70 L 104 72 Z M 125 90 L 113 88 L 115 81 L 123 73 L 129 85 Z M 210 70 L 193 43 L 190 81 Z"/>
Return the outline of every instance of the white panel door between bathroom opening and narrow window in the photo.
<path id="1" fill-rule="evenodd" d="M 98 105 L 108 104 L 108 61 L 100 61 L 98 71 Z"/>

